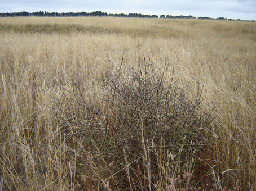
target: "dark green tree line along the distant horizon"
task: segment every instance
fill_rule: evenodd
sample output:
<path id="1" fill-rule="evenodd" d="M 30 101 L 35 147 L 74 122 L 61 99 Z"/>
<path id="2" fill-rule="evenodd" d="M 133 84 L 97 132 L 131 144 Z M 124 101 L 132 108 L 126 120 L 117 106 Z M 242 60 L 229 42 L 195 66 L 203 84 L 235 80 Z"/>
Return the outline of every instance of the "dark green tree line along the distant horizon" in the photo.
<path id="1" fill-rule="evenodd" d="M 37 12 L 27 12 L 27 11 L 21 11 L 21 12 L 6 12 L 6 13 L 0 13 L 0 17 L 15 17 L 15 16 L 51 16 L 51 17 L 76 17 L 76 16 L 112 16 L 112 17 L 138 17 L 138 18 L 158 18 L 158 15 L 144 15 L 140 13 L 129 13 L 124 14 L 112 14 L 102 11 L 94 11 L 94 12 L 47 12 L 47 11 L 37 11 Z M 210 18 L 210 17 L 193 17 L 191 15 L 189 16 L 172 16 L 172 15 L 160 15 L 160 19 L 200 19 L 200 20 L 226 20 L 227 18 L 219 17 L 219 18 Z M 234 19 L 228 19 L 228 21 L 249 21 L 249 20 L 234 20 Z M 255 20 L 253 20 L 255 21 Z"/>

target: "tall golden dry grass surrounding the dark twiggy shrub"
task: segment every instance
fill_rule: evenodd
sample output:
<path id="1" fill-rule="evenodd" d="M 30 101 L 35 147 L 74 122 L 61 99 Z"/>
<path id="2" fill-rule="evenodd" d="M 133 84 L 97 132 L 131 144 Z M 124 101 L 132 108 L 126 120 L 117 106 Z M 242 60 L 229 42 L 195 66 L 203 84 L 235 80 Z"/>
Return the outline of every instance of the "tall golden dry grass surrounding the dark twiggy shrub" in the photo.
<path id="1" fill-rule="evenodd" d="M 95 78 L 121 63 L 136 67 L 144 57 L 155 69 L 174 66 L 176 85 L 187 89 L 188 98 L 203 87 L 202 108 L 216 106 L 213 139 L 197 158 L 201 166 L 189 186 L 256 189 L 255 22 L 12 17 L 0 18 L 0 39 L 0 189 L 134 189 L 135 179 L 142 181 L 140 189 L 173 189 L 169 178 L 182 176 L 178 167 L 168 172 L 158 161 L 158 183 L 143 185 L 145 177 L 129 171 L 129 163 L 91 157 L 82 144 L 87 138 L 63 129 L 52 112 L 63 93 L 59 87 L 72 89 L 78 74 L 86 101 L 107 110 Z M 137 163 L 136 172 L 143 168 Z M 121 184 L 122 176 L 127 179 Z M 147 179 L 152 176 L 147 171 Z"/>

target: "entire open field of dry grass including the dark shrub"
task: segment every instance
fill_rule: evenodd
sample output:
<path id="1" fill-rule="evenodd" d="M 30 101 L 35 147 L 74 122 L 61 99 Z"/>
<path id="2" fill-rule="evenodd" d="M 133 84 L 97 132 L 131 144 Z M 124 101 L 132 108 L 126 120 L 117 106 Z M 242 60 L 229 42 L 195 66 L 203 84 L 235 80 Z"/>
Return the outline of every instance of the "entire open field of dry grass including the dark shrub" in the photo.
<path id="1" fill-rule="evenodd" d="M 256 189 L 255 22 L 11 17 L 0 39 L 0 190 Z"/>

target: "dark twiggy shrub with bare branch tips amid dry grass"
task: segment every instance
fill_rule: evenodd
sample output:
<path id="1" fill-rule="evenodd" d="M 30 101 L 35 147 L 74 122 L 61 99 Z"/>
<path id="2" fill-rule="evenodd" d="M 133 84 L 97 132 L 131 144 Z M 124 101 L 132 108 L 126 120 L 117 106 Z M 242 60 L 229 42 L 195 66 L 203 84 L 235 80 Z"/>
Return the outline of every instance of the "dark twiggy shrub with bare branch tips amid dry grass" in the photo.
<path id="1" fill-rule="evenodd" d="M 72 90 L 60 87 L 55 116 L 65 130 L 85 137 L 83 149 L 115 161 L 120 184 L 164 188 L 163 177 L 193 172 L 199 164 L 198 151 L 210 140 L 211 112 L 201 107 L 202 89 L 190 99 L 169 65 L 156 70 L 146 58 L 136 67 L 124 65 L 94 78 L 102 89 L 98 103 L 87 101 L 79 78 Z"/>

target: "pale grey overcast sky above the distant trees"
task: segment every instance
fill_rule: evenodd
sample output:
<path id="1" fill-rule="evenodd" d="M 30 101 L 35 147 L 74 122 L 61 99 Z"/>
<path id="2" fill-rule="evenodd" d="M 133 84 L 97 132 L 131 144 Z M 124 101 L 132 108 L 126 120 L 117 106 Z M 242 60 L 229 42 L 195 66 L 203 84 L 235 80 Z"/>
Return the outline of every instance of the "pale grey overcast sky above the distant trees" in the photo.
<path id="1" fill-rule="evenodd" d="M 256 20 L 256 0 L 0 0 L 0 12 L 143 13 Z"/>

